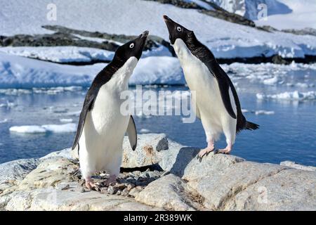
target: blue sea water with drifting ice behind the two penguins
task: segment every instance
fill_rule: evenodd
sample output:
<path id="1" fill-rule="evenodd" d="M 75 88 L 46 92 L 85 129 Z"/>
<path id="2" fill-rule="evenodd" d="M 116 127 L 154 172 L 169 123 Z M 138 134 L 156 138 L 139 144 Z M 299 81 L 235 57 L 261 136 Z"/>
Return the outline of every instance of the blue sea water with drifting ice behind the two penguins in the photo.
<path id="1" fill-rule="evenodd" d="M 303 75 L 302 75 L 303 76 Z M 246 160 L 279 163 L 284 160 L 316 166 L 316 101 L 258 100 L 256 93 L 282 93 L 294 91 L 291 86 L 269 86 L 239 80 L 239 99 L 247 120 L 260 124 L 256 131 L 242 131 L 232 150 Z M 131 87 L 134 89 L 134 87 Z M 186 86 L 147 87 L 143 89 L 187 90 Z M 315 87 L 305 91 L 315 90 Z M 74 133 L 17 134 L 12 126 L 62 124 L 61 118 L 78 121 L 78 112 L 86 89 L 37 94 L 0 94 L 0 103 L 13 103 L 0 108 L 0 163 L 20 158 L 38 158 L 52 151 L 72 145 Z M 256 110 L 273 111 L 271 115 L 256 115 Z M 170 139 L 185 146 L 206 146 L 200 120 L 183 123 L 182 116 L 134 117 L 138 132 L 147 129 L 152 133 L 166 133 Z M 6 122 L 4 122 L 6 121 Z M 225 138 L 216 143 L 225 147 Z"/>

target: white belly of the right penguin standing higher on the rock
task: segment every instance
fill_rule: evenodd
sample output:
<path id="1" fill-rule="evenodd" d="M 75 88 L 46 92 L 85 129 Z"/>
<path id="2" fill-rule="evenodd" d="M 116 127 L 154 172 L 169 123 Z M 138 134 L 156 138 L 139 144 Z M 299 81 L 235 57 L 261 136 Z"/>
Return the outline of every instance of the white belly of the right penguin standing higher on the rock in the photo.
<path id="1" fill-rule="evenodd" d="M 220 96 L 220 89 L 209 68 L 192 56 L 190 62 L 182 63 L 185 80 L 191 91 L 196 91 L 197 115 L 202 120 L 207 134 L 218 139 L 224 130 L 234 131 L 237 120 L 230 117 Z M 232 108 L 236 112 L 235 101 L 230 90 Z M 235 135 L 234 135 L 235 136 Z"/>

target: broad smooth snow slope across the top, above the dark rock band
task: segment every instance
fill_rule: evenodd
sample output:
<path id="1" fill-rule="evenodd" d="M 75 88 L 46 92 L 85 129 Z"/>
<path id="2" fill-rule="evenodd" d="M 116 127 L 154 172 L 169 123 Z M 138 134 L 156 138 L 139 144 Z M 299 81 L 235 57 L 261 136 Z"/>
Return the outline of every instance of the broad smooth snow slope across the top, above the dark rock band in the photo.
<path id="1" fill-rule="evenodd" d="M 55 0 L 54 4 L 58 8 L 58 19 L 55 21 L 48 21 L 46 18 L 48 4 L 51 4 L 50 0 L 1 1 L 1 35 L 48 33 L 51 31 L 45 30 L 41 25 L 49 24 L 127 35 L 137 35 L 146 29 L 150 30 L 151 35 L 168 40 L 169 34 L 162 20 L 162 15 L 166 14 L 188 29 L 194 30 L 198 39 L 218 58 L 274 54 L 290 58 L 304 57 L 306 54 L 316 55 L 316 37 L 265 32 L 171 4 L 141 0 Z M 29 7 L 30 5 L 37 7 Z"/>

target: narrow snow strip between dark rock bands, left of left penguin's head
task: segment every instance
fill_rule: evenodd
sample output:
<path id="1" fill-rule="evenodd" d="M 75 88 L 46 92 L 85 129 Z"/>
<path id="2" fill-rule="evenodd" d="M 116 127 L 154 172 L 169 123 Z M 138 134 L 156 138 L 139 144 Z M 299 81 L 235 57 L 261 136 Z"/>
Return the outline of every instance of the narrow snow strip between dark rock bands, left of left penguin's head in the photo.
<path id="1" fill-rule="evenodd" d="M 90 62 L 92 60 L 110 61 L 114 56 L 113 51 L 77 46 L 2 47 L 0 51 L 15 56 L 38 58 L 55 63 Z"/>

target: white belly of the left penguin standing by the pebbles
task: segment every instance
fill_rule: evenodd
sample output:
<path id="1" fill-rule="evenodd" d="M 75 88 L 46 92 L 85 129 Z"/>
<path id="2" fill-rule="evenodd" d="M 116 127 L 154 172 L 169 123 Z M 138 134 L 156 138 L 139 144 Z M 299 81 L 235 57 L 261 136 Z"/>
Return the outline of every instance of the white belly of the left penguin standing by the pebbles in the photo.
<path id="1" fill-rule="evenodd" d="M 119 172 L 122 143 L 129 123 L 129 116 L 120 113 L 121 101 L 118 93 L 104 85 L 96 97 L 93 110 L 86 116 L 79 140 L 79 159 L 81 167 L 85 167 L 83 170 L 88 173 L 103 169 L 110 174 L 117 175 Z"/>

